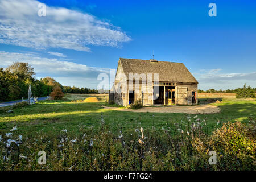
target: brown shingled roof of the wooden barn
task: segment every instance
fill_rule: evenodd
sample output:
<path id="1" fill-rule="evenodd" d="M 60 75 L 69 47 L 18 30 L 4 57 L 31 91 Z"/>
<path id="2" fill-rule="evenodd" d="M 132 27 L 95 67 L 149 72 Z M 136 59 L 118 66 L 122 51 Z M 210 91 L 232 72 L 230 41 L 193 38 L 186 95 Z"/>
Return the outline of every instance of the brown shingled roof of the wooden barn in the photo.
<path id="1" fill-rule="evenodd" d="M 183 63 L 174 63 L 157 60 L 125 59 L 120 58 L 123 72 L 128 78 L 129 73 L 158 73 L 159 81 L 197 83 L 197 80 Z M 152 76 L 154 80 L 154 76 Z"/>

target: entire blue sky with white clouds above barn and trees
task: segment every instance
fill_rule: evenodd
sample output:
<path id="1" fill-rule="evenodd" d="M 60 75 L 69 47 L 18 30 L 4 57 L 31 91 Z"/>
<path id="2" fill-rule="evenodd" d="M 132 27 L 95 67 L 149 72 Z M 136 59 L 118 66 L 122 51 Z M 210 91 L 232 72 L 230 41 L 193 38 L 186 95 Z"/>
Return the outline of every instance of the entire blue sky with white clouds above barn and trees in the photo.
<path id="1" fill-rule="evenodd" d="M 154 51 L 184 63 L 199 89 L 256 87 L 255 1 L 40 2 L 0 0 L 0 67 L 27 61 L 38 78 L 97 88 L 119 57 L 152 59 Z"/>

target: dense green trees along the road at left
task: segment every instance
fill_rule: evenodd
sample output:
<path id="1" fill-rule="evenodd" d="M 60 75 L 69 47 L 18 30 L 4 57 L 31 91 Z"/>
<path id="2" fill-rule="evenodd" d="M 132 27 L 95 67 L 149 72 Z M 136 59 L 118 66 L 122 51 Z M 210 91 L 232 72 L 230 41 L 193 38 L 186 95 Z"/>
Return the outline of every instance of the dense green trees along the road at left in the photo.
<path id="1" fill-rule="evenodd" d="M 17 100 L 28 97 L 28 86 L 31 85 L 33 96 L 49 96 L 54 88 L 64 93 L 98 93 L 98 90 L 63 86 L 51 77 L 35 77 L 34 68 L 28 63 L 15 62 L 7 68 L 0 68 L 0 101 Z"/>

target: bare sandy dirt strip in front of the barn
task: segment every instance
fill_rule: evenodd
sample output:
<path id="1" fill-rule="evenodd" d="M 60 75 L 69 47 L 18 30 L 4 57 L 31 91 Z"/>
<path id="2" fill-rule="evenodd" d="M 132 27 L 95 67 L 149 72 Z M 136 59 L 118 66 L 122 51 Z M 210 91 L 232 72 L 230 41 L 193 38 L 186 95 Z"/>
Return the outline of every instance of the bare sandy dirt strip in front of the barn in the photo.
<path id="1" fill-rule="evenodd" d="M 220 109 L 213 105 L 198 105 L 198 106 L 166 106 L 166 107 L 142 107 L 142 109 L 123 109 L 119 107 L 107 107 L 102 106 L 106 109 L 119 110 L 119 111 L 129 111 L 137 113 L 188 113 L 188 114 L 203 114 L 203 113 L 218 113 Z"/>

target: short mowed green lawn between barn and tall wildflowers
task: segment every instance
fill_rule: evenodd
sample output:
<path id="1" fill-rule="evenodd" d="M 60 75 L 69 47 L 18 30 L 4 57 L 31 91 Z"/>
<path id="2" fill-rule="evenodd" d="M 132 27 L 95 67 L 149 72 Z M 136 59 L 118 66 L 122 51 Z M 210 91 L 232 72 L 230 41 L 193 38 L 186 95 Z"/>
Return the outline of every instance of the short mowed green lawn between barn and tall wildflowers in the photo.
<path id="1" fill-rule="evenodd" d="M 208 123 L 209 133 L 220 127 L 217 125 L 228 121 L 248 122 L 256 118 L 255 100 L 235 100 L 214 103 L 220 107 L 220 113 L 214 114 L 184 114 L 184 113 L 134 113 L 127 111 L 114 111 L 104 109 L 101 105 L 105 102 L 84 103 L 71 101 L 42 101 L 38 104 L 15 109 L 13 113 L 0 114 L 0 133 L 6 133 L 15 125 L 19 133 L 23 135 L 36 135 L 40 131 L 59 133 L 67 129 L 72 134 L 79 133 L 81 127 L 99 127 L 101 118 L 106 125 L 117 131 L 135 130 L 137 126 L 143 126 L 145 130 L 151 130 L 152 126 L 157 130 L 168 127 L 175 122 L 184 122 L 184 127 L 191 125 L 193 117 Z M 187 117 L 191 117 L 189 123 Z M 139 124 L 141 123 L 141 125 Z"/>

